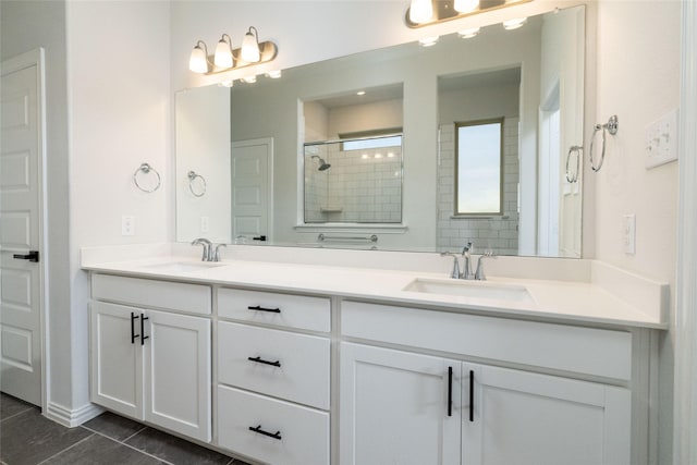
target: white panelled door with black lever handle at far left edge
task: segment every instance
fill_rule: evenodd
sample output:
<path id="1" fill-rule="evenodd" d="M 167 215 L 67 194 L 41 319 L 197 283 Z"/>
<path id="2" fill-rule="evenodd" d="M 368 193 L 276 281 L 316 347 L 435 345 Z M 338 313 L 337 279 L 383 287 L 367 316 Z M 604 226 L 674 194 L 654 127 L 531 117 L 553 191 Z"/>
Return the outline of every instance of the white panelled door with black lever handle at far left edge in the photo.
<path id="1" fill-rule="evenodd" d="M 0 148 L 1 390 L 41 405 L 42 50 L 2 63 Z"/>

